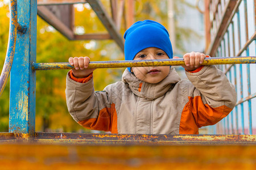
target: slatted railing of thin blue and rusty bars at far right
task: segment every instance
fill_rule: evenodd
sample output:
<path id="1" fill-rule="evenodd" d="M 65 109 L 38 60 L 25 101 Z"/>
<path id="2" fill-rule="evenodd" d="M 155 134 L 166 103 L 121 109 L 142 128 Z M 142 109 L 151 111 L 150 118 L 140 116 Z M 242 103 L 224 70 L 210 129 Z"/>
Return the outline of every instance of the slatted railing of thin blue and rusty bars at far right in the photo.
<path id="1" fill-rule="evenodd" d="M 207 52 L 212 56 L 254 56 L 256 54 L 256 1 L 205 1 L 208 34 Z M 229 57 L 227 57 L 229 58 Z M 217 134 L 256 134 L 255 65 L 218 66 L 237 91 L 237 104 L 214 129 Z"/>

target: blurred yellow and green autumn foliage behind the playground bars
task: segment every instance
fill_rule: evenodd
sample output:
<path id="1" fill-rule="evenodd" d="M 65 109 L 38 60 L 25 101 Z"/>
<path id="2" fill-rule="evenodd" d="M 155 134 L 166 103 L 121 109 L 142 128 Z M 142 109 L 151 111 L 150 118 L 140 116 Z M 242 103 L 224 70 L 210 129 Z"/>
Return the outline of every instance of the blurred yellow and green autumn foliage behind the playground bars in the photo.
<path id="1" fill-rule="evenodd" d="M 5 61 L 9 36 L 9 6 L 0 0 L 0 61 Z M 176 6 L 184 1 L 176 1 Z M 102 1 L 109 9 L 109 1 Z M 75 6 L 75 32 L 106 32 L 97 15 L 88 4 Z M 135 3 L 135 21 L 152 19 L 167 27 L 167 0 L 142 0 Z M 180 12 L 177 10 L 177 14 Z M 113 40 L 69 41 L 51 25 L 38 17 L 37 27 L 37 61 L 68 62 L 69 57 L 88 56 L 91 61 L 108 61 L 124 59 L 120 48 Z M 124 22 L 121 35 L 125 32 Z M 177 29 L 178 41 L 180 29 Z M 177 43 L 180 44 L 180 43 Z M 180 45 L 182 46 L 182 45 Z M 18 48 L 18 47 L 16 47 Z M 179 48 L 179 46 L 177 47 Z M 181 49 L 182 50 L 182 49 Z M 110 83 L 121 80 L 124 69 L 97 69 L 94 71 L 94 88 L 103 90 Z M 86 131 L 69 115 L 65 101 L 65 78 L 68 70 L 50 70 L 36 72 L 36 131 Z M 0 97 L 0 131 L 8 131 L 9 126 L 9 83 Z"/>

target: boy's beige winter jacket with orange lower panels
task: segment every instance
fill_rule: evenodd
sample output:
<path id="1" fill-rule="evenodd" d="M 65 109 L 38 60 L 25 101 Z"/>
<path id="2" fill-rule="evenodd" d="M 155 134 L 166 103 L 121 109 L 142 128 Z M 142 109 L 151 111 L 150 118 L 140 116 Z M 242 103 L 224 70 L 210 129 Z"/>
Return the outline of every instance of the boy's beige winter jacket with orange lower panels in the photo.
<path id="1" fill-rule="evenodd" d="M 198 134 L 236 104 L 234 86 L 215 66 L 180 80 L 170 69 L 162 82 L 142 82 L 127 69 L 122 81 L 94 92 L 93 78 L 79 83 L 67 76 L 67 105 L 80 125 L 121 134 Z"/>

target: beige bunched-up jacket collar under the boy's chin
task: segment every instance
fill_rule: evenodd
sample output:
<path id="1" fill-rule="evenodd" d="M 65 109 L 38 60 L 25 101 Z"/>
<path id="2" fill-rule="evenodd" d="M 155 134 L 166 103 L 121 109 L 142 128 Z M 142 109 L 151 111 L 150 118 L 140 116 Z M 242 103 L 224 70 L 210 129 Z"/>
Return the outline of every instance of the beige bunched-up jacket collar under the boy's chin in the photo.
<path id="1" fill-rule="evenodd" d="M 170 68 L 170 73 L 161 82 L 151 84 L 139 80 L 134 74 L 127 69 L 123 72 L 122 81 L 129 84 L 133 93 L 139 97 L 154 100 L 166 94 L 175 83 L 180 81 L 180 77 L 174 68 Z"/>

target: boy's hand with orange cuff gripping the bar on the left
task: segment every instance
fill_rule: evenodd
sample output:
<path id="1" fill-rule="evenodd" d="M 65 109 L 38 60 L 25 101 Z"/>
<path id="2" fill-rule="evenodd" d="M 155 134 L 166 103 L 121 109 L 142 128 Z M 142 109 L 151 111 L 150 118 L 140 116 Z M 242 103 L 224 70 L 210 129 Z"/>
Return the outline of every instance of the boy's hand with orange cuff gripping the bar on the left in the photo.
<path id="1" fill-rule="evenodd" d="M 87 69 L 89 66 L 90 58 L 89 57 L 70 57 L 68 62 L 71 66 L 74 66 L 75 69 L 72 69 L 72 73 L 76 78 L 85 78 L 95 69 Z"/>

